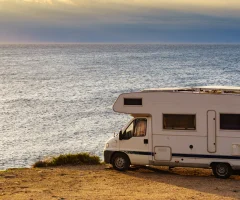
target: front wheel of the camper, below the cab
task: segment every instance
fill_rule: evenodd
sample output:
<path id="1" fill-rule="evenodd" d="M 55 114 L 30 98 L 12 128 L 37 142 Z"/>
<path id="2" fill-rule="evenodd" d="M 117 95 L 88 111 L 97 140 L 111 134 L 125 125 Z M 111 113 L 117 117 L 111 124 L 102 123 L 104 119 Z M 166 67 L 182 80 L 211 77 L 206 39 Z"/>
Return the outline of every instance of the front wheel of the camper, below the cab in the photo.
<path id="1" fill-rule="evenodd" d="M 112 165 L 118 171 L 126 171 L 130 166 L 130 161 L 127 155 L 116 153 L 112 158 Z"/>

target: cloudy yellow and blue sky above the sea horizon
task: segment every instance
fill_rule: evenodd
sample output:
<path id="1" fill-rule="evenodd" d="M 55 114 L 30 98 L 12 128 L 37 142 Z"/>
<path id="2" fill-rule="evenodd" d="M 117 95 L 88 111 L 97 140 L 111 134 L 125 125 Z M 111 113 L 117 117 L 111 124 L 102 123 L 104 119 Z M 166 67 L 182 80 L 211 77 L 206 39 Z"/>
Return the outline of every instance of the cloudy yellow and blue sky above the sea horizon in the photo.
<path id="1" fill-rule="evenodd" d="M 240 43 L 240 0 L 0 0 L 0 43 Z"/>

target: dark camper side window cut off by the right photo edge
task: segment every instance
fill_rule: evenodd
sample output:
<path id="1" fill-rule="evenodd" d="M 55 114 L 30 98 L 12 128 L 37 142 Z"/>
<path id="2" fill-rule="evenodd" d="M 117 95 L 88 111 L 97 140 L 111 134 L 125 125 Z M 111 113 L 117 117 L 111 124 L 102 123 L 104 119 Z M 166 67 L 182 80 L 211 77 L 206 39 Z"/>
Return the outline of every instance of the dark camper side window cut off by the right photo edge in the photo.
<path id="1" fill-rule="evenodd" d="M 220 114 L 220 129 L 240 130 L 240 114 Z"/>

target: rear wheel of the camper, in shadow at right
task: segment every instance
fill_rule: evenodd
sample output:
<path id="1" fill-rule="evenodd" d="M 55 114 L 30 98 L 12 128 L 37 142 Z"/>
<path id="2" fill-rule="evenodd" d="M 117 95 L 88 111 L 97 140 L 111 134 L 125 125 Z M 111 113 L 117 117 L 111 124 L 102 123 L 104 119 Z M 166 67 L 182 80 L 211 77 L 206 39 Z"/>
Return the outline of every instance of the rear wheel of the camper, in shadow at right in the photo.
<path id="1" fill-rule="evenodd" d="M 226 179 L 232 175 L 232 167 L 228 163 L 215 163 L 212 171 L 216 178 Z"/>

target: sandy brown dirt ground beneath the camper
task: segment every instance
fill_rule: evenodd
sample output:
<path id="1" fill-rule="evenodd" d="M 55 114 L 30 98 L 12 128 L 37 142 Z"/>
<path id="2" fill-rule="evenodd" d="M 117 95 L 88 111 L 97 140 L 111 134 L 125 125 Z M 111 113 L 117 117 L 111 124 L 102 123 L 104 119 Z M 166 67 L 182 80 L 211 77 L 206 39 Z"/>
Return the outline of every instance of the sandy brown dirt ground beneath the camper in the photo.
<path id="1" fill-rule="evenodd" d="M 1 200 L 240 199 L 240 176 L 216 179 L 211 170 L 67 166 L 0 172 Z"/>

